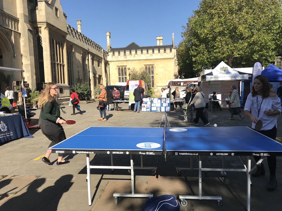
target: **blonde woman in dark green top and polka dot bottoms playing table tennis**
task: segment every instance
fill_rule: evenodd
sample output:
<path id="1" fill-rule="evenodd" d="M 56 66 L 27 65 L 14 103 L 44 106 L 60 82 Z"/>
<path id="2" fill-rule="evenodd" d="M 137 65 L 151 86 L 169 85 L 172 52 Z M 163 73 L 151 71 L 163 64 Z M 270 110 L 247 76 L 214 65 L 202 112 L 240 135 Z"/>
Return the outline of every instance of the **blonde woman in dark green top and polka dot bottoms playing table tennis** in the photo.
<path id="1" fill-rule="evenodd" d="M 38 98 L 38 106 L 41 107 L 40 128 L 42 133 L 51 141 L 48 148 L 66 139 L 65 131 L 61 126 L 61 124 L 66 124 L 66 121 L 60 117 L 60 107 L 54 99 L 57 94 L 57 85 L 49 82 Z M 42 158 L 44 163 L 51 164 L 49 160 L 50 154 L 51 152 L 47 150 Z M 69 163 L 68 160 L 63 160 L 64 154 L 58 153 L 57 165 Z"/>

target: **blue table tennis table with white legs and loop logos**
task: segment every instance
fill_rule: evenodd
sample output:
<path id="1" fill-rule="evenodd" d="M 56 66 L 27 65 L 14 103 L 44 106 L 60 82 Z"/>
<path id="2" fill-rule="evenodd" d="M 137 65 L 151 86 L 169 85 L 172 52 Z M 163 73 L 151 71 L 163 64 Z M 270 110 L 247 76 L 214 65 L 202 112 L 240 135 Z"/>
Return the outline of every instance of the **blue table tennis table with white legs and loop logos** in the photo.
<path id="1" fill-rule="evenodd" d="M 111 131 L 111 133 L 109 133 Z M 228 131 L 228 135 L 227 135 Z M 101 135 L 103 134 L 103 135 Z M 223 206 L 221 196 L 202 196 L 202 171 L 242 171 L 247 176 L 247 210 L 250 210 L 250 173 L 252 156 L 261 155 L 260 163 L 266 156 L 282 156 L 282 144 L 248 127 L 89 127 L 80 133 L 50 147 L 54 153 L 85 153 L 87 164 L 88 202 L 91 205 L 90 169 L 127 169 L 131 171 L 129 194 L 114 193 L 118 197 L 153 197 L 153 194 L 135 194 L 134 154 L 148 156 L 197 156 L 199 162 L 199 195 L 180 195 L 183 206 L 185 199 L 212 199 Z M 89 154 L 129 154 L 130 166 L 92 166 Z M 247 165 L 242 169 L 202 168 L 201 156 L 247 156 Z M 242 163 L 243 160 L 241 159 Z M 112 162 L 113 163 L 113 162 Z"/>

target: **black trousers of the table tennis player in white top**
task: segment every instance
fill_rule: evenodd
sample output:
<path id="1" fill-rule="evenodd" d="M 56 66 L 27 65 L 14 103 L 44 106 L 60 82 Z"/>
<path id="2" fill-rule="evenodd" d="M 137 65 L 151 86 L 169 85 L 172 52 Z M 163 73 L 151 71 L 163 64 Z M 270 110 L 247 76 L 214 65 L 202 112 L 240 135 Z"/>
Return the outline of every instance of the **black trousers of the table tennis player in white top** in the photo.
<path id="1" fill-rule="evenodd" d="M 276 134 L 277 134 L 277 128 L 274 125 L 274 127 L 270 130 L 257 131 L 257 132 L 267 136 L 268 138 L 275 140 Z M 255 159 L 255 162 L 257 162 L 257 161 L 259 161 L 259 159 L 261 159 L 261 156 L 254 156 L 254 159 Z M 268 163 L 268 167 L 269 167 L 269 174 L 275 175 L 275 172 L 276 172 L 276 156 L 274 156 L 274 155 L 267 156 L 267 163 Z"/>

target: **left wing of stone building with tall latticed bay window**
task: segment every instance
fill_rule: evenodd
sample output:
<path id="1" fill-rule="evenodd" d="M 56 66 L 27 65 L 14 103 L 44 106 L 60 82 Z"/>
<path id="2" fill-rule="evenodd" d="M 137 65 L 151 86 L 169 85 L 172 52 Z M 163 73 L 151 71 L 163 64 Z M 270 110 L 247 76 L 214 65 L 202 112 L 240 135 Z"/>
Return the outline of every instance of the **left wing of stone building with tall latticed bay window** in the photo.
<path id="1" fill-rule="evenodd" d="M 91 90 L 109 84 L 107 52 L 81 33 L 80 20 L 77 25 L 76 30 L 67 24 L 59 0 L 0 1 L 0 66 L 24 69 L 32 89 L 56 83 L 58 102 L 68 102 L 77 79 L 89 82 Z M 4 93 L 1 78 L 0 86 Z"/>

